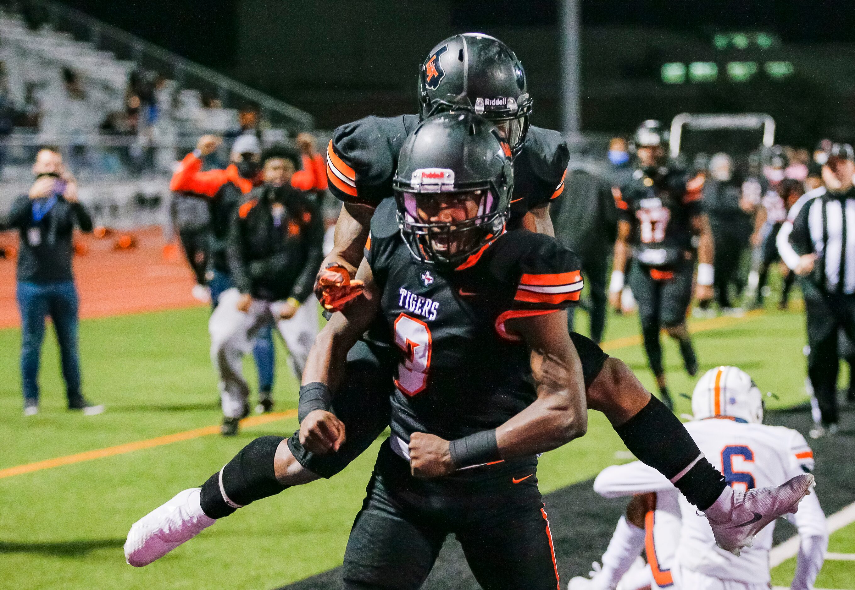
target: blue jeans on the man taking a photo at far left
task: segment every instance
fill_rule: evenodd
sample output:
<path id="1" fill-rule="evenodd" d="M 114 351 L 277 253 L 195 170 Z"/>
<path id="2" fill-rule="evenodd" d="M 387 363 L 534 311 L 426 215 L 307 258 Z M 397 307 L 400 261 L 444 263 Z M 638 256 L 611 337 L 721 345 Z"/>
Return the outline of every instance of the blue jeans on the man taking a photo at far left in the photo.
<path id="1" fill-rule="evenodd" d="M 80 356 L 77 352 L 77 289 L 72 281 L 21 283 L 15 295 L 21 312 L 21 381 L 24 403 L 38 404 L 38 363 L 44 340 L 44 318 L 50 316 L 62 359 L 68 401 L 80 398 Z"/>

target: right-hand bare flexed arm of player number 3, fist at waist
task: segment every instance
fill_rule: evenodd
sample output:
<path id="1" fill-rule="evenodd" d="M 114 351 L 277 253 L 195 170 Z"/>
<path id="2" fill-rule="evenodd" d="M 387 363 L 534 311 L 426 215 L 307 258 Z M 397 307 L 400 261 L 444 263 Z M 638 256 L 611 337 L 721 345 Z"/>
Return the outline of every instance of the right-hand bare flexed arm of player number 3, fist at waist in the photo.
<path id="1" fill-rule="evenodd" d="M 531 350 L 538 397 L 495 430 L 498 455 L 502 459 L 512 459 L 545 453 L 584 435 L 587 430 L 585 383 L 579 354 L 567 331 L 567 313 L 517 318 L 509 320 L 507 325 L 508 330 L 521 336 Z M 447 476 L 460 466 L 466 466 L 457 465 L 451 444 L 439 436 L 414 433 L 410 437 L 413 475 Z"/>

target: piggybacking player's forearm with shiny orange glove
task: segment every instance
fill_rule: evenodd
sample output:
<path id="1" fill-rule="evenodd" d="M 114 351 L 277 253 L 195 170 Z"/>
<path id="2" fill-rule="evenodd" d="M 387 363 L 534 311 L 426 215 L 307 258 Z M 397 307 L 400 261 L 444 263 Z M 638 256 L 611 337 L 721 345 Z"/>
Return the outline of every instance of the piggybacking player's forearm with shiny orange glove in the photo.
<path id="1" fill-rule="evenodd" d="M 321 263 L 315 279 L 315 295 L 327 310 L 338 312 L 361 292 L 363 285 L 351 281 L 363 260 L 374 207 L 345 203 L 335 223 L 332 251 Z"/>

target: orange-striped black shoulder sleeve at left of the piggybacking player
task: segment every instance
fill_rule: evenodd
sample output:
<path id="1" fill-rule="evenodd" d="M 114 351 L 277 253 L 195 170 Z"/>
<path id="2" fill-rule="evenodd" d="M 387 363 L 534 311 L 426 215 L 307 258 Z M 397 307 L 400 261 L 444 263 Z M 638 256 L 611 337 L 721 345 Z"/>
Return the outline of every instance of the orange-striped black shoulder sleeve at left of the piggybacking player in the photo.
<path id="1" fill-rule="evenodd" d="M 333 195 L 371 207 L 392 196 L 392 175 L 412 117 L 416 115 L 372 115 L 333 131 L 327 146 L 327 178 Z"/>

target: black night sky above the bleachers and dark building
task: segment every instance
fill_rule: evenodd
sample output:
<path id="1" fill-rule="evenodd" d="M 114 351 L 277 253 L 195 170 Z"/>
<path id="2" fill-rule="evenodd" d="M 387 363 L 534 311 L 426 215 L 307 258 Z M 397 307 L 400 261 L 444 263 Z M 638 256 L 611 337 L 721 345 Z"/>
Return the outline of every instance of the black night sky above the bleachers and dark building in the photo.
<path id="1" fill-rule="evenodd" d="M 289 0 L 281 0 L 288 2 Z M 293 1 L 293 0 L 291 0 Z M 235 49 L 240 0 L 68 0 L 97 18 L 210 66 L 227 66 Z M 452 20 L 465 29 L 557 22 L 556 0 L 456 0 Z M 582 23 L 711 27 L 777 32 L 784 41 L 855 42 L 852 0 L 582 0 Z"/>

